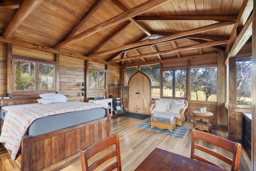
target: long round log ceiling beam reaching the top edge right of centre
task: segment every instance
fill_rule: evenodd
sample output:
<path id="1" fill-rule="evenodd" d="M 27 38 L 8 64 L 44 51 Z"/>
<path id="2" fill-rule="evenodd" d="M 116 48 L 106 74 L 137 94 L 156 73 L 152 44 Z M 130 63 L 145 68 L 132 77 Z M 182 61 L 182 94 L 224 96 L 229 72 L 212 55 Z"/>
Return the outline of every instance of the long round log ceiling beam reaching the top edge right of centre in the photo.
<path id="1" fill-rule="evenodd" d="M 140 4 L 126 12 L 123 12 L 119 14 L 118 16 L 115 16 L 113 18 L 110 18 L 109 20 L 106 20 L 100 24 L 97 24 L 96 26 L 93 26 L 89 28 L 88 30 L 77 34 L 67 40 L 64 40 L 63 42 L 60 42 L 54 46 L 54 49 L 60 49 L 63 48 L 64 46 L 67 46 L 69 44 L 72 44 L 74 42 L 77 42 L 79 40 L 82 40 L 96 32 L 99 32 L 101 30 L 104 30 L 106 28 L 109 28 L 111 26 L 114 26 L 120 22 L 123 22 L 125 20 L 128 20 L 134 16 L 137 16 L 139 14 L 142 14 L 144 12 L 147 12 L 149 10 L 152 10 L 153 8 L 156 8 L 157 6 L 160 6 L 170 0 L 149 0 L 147 2 L 144 2 L 143 4 Z"/>

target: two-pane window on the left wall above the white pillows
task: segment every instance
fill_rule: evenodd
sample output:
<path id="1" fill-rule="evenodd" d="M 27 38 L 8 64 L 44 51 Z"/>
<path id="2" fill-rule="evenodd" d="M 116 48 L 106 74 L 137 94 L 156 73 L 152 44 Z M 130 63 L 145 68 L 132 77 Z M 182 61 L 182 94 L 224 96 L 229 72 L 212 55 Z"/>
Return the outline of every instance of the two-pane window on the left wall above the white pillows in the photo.
<path id="1" fill-rule="evenodd" d="M 56 91 L 55 65 L 33 60 L 13 59 L 14 92 Z"/>

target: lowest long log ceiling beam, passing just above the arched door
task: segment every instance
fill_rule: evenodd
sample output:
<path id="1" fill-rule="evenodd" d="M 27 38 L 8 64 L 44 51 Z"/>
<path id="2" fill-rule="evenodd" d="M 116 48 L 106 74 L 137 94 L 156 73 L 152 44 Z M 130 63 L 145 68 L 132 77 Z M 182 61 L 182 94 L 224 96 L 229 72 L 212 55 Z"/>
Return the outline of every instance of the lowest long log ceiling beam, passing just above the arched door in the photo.
<path id="1" fill-rule="evenodd" d="M 176 52 L 185 51 L 185 50 L 198 49 L 198 48 L 207 48 L 207 47 L 210 47 L 210 46 L 217 46 L 217 45 L 226 44 L 226 43 L 228 43 L 228 42 L 223 41 L 223 40 L 215 40 L 215 41 L 212 41 L 212 42 L 205 42 L 205 43 L 201 43 L 201 44 L 184 46 L 184 47 L 180 47 L 180 48 L 176 48 L 176 49 L 172 49 L 172 50 L 152 52 L 152 53 L 149 53 L 149 54 L 143 54 L 143 55 L 132 56 L 132 57 L 128 57 L 128 58 L 116 59 L 116 60 L 112 60 L 112 62 L 122 62 L 123 60 L 148 58 L 150 56 L 165 55 L 165 54 L 171 54 L 171 53 L 176 53 Z"/>

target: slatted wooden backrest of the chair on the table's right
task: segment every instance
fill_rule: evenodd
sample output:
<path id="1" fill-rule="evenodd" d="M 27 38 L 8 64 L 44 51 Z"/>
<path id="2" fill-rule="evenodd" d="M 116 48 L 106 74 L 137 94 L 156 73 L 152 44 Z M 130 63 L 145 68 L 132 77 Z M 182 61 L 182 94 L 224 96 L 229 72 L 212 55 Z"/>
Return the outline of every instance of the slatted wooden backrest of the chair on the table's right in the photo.
<path id="1" fill-rule="evenodd" d="M 229 158 L 229 157 L 225 156 L 224 154 L 220 154 L 218 151 L 213 151 L 212 149 L 210 149 L 212 147 L 212 145 L 209 145 L 209 144 L 205 145 L 207 147 L 203 147 L 202 145 L 195 143 L 195 139 L 200 139 L 202 141 L 205 141 L 207 143 L 216 145 L 222 149 L 230 151 L 231 153 L 233 153 L 233 156 L 232 156 L 232 158 Z M 199 161 L 203 161 L 205 163 L 209 163 L 212 165 L 216 165 L 216 164 L 212 163 L 211 161 L 197 155 L 200 153 L 195 154 L 195 149 L 198 149 L 200 151 L 208 153 L 208 154 L 224 161 L 225 163 L 228 163 L 229 165 L 231 165 L 231 171 L 238 171 L 238 169 L 239 169 L 240 155 L 241 155 L 241 144 L 240 143 L 235 143 L 235 142 L 229 141 L 228 139 L 224 139 L 222 137 L 218 137 L 218 136 L 212 135 L 210 133 L 192 129 L 190 158 L 196 159 Z M 226 152 L 226 153 L 228 153 L 228 152 Z M 214 159 L 214 157 L 213 157 L 213 159 Z M 216 166 L 218 166 L 218 165 L 216 165 Z M 220 167 L 220 166 L 218 166 L 218 167 Z"/>

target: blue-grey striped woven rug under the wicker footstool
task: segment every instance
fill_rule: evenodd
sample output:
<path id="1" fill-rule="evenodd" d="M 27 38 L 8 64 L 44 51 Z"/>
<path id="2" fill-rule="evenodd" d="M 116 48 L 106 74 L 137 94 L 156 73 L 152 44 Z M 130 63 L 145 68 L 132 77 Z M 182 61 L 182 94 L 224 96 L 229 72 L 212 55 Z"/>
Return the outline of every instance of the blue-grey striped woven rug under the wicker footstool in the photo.
<path id="1" fill-rule="evenodd" d="M 156 133 L 162 133 L 162 134 L 166 134 L 166 135 L 170 135 L 170 136 L 174 136 L 174 137 L 178 137 L 178 138 L 183 138 L 188 131 L 188 128 L 180 127 L 178 125 L 176 125 L 176 129 L 172 129 L 172 133 L 168 129 L 159 129 L 157 127 L 153 127 L 151 129 L 150 121 L 146 121 L 146 122 L 138 125 L 137 128 L 145 129 L 148 131 L 153 131 Z"/>

